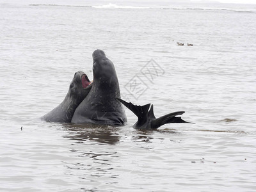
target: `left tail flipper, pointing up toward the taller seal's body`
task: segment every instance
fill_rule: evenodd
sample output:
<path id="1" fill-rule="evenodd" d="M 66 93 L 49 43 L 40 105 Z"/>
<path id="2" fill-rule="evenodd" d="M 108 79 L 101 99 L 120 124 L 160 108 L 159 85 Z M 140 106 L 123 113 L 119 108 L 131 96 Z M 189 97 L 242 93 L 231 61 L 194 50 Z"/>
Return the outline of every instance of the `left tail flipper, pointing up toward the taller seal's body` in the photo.
<path id="1" fill-rule="evenodd" d="M 122 99 L 119 99 L 119 98 L 116 98 L 116 99 L 119 100 L 120 102 L 122 102 L 122 104 L 124 104 L 125 107 L 130 109 L 136 116 L 138 116 L 139 120 L 141 120 L 141 118 L 147 118 L 148 109 L 150 108 L 150 104 L 146 104 L 145 106 L 137 106 L 137 105 L 132 104 L 131 102 L 128 103 Z"/>

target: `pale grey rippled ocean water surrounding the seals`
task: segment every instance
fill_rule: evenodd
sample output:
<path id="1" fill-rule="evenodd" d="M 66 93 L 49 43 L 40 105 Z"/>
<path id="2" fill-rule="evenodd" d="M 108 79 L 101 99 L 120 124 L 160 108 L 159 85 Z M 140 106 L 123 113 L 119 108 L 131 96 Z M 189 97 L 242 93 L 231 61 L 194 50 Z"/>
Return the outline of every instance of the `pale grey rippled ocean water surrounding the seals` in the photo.
<path id="1" fill-rule="evenodd" d="M 0 191 L 255 191 L 255 20 L 253 5 L 0 3 Z M 40 120 L 75 72 L 92 80 L 95 49 L 123 99 L 195 124 Z"/>

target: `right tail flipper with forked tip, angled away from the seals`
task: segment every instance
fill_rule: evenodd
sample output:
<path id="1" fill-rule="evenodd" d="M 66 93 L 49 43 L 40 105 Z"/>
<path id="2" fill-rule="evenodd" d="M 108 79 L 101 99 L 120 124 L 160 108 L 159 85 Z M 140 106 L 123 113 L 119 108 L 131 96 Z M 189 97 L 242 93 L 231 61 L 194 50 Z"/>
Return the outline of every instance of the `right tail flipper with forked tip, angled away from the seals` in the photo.
<path id="1" fill-rule="evenodd" d="M 177 111 L 177 112 L 169 113 L 167 115 L 156 118 L 151 122 L 151 129 L 157 129 L 158 127 L 164 124 L 189 123 L 182 120 L 180 116 L 176 117 L 176 115 L 182 115 L 183 113 L 185 113 L 185 111 Z"/>

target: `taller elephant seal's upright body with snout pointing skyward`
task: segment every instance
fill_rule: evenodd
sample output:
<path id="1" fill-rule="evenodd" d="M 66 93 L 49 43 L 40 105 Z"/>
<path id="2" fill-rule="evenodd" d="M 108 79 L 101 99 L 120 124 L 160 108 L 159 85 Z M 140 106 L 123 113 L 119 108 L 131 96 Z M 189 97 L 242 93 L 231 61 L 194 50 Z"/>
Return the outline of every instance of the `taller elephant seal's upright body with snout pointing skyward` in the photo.
<path id="1" fill-rule="evenodd" d="M 72 123 L 124 125 L 127 122 L 120 98 L 115 67 L 105 53 L 95 50 L 93 56 L 93 86 L 76 108 Z"/>

